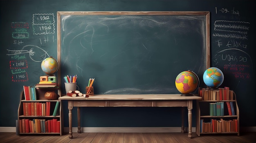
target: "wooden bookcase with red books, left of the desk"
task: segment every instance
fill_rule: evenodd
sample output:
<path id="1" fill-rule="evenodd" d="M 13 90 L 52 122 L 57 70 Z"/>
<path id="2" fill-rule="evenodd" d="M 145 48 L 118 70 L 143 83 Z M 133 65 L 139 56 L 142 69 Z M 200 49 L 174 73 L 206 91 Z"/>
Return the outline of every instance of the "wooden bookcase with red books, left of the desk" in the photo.
<path id="1" fill-rule="evenodd" d="M 20 93 L 20 104 L 18 107 L 18 134 L 62 135 L 62 105 L 61 101 L 58 100 L 58 87 L 35 88 L 35 91 L 36 100 L 25 99 L 24 90 Z M 45 93 L 49 91 L 57 94 L 55 100 L 47 100 L 45 98 Z"/>

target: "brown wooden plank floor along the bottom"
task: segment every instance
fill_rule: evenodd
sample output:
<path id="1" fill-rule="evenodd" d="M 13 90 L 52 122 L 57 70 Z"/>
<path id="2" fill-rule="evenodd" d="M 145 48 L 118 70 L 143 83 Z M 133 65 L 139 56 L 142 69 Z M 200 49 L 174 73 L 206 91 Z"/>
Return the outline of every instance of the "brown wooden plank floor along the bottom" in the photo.
<path id="1" fill-rule="evenodd" d="M 203 134 L 193 139 L 187 133 L 68 133 L 58 135 L 21 135 L 0 132 L 0 143 L 256 143 L 256 132 L 236 134 Z"/>

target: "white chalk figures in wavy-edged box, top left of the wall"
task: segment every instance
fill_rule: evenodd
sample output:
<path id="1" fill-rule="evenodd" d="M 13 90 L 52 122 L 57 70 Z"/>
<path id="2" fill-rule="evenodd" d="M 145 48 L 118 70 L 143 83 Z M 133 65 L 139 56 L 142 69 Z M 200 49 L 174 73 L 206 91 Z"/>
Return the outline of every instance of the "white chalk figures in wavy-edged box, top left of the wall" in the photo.
<path id="1" fill-rule="evenodd" d="M 33 34 L 47 35 L 55 33 L 54 14 L 33 14 Z"/>

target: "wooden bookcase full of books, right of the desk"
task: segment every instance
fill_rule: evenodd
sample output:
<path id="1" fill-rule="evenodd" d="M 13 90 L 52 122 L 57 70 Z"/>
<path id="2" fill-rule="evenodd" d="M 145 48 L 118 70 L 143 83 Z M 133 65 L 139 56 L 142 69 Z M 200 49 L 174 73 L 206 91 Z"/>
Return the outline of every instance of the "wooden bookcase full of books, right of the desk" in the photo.
<path id="1" fill-rule="evenodd" d="M 238 134 L 239 108 L 236 93 L 225 88 L 198 88 L 196 133 Z"/>

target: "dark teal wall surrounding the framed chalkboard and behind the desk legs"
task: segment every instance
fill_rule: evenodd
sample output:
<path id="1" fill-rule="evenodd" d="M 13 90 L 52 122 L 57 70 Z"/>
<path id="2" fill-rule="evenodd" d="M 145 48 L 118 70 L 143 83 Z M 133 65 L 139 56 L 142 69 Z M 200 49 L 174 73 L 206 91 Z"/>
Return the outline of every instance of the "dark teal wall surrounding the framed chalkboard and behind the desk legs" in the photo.
<path id="1" fill-rule="evenodd" d="M 48 55 L 57 58 L 57 11 L 210 11 L 211 66 L 223 70 L 225 80 L 222 86 L 229 86 L 236 92 L 240 109 L 240 125 L 256 126 L 254 89 L 256 59 L 253 52 L 256 6 L 254 0 L 1 0 L 0 5 L 0 74 L 2 75 L 0 126 L 15 126 L 22 86 L 33 86 L 38 83 L 39 76 L 44 75 L 40 69 L 40 62 L 35 62 L 42 60 L 44 54 L 34 57 L 29 57 L 28 53 L 13 56 L 7 55 L 9 53 L 7 49 L 29 50 L 33 48 L 38 50 L 39 47 L 44 49 Z M 33 25 L 33 14 L 53 14 L 55 21 L 51 21 L 51 26 L 55 28 L 54 33 L 33 34 L 33 28 L 38 30 L 38 27 Z M 220 33 L 214 30 L 214 22 L 217 20 L 248 22 L 249 30 L 247 30 L 245 40 L 237 35 L 229 38 L 216 36 L 216 33 Z M 12 37 L 13 33 L 20 32 L 15 27 L 11 27 L 13 22 L 29 25 L 28 29 L 25 28 L 26 34 L 28 33 L 28 35 L 24 34 L 25 38 Z M 238 25 L 243 26 L 241 23 Z M 233 42 L 231 47 L 228 44 L 230 42 Z M 239 50 L 223 52 L 227 48 Z M 43 53 L 41 50 L 37 52 Z M 223 56 L 229 58 L 225 59 Z M 22 60 L 22 58 L 28 62 L 28 68 L 25 68 L 27 75 L 16 76 L 23 74 L 15 73 L 12 79 L 13 69 L 10 68 L 10 61 Z M 247 61 L 240 61 L 243 58 Z M 227 65 L 235 66 L 237 70 L 230 67 L 227 69 Z M 193 113 L 195 109 L 194 104 Z M 63 103 L 63 110 L 64 125 L 67 127 L 66 102 Z M 82 127 L 177 127 L 180 126 L 180 118 L 177 117 L 181 116 L 180 108 L 82 108 L 81 114 Z M 73 125 L 77 125 L 76 114 L 73 114 Z M 195 114 L 193 114 L 193 127 L 195 127 Z"/>

